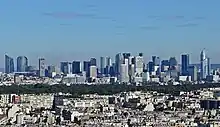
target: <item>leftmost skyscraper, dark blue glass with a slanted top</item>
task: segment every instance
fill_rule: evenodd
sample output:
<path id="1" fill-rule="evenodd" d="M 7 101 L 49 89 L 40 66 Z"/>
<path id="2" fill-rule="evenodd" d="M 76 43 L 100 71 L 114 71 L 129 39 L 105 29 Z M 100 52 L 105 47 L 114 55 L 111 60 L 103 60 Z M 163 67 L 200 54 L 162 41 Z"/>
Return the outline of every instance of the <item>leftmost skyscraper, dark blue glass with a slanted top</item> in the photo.
<path id="1" fill-rule="evenodd" d="M 13 58 L 5 55 L 5 73 L 13 73 L 14 72 L 14 60 Z"/>

